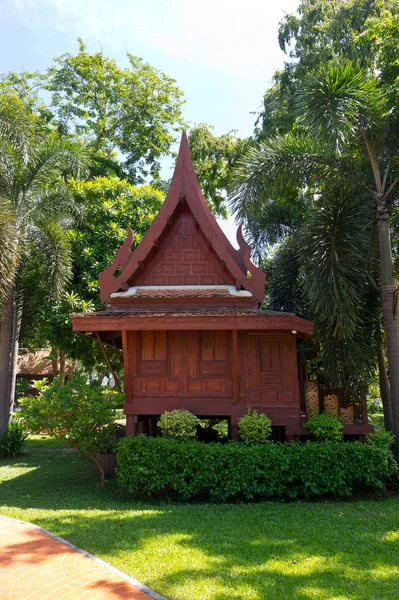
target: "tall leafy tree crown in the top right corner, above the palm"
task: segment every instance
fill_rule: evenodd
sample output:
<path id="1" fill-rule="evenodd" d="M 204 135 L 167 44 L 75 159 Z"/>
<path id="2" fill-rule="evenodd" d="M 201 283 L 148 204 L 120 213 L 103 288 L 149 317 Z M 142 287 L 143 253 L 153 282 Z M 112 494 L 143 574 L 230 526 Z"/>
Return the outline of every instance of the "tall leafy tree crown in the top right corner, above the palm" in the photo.
<path id="1" fill-rule="evenodd" d="M 385 26 L 381 21 L 386 11 L 397 15 L 397 3 L 392 0 L 301 0 L 297 14 L 288 14 L 280 22 L 278 41 L 289 60 L 284 69 L 276 71 L 273 85 L 265 93 L 264 108 L 257 120 L 257 138 L 292 129 L 298 86 L 329 61 L 344 58 L 362 68 L 373 69 L 376 57 L 384 53 L 382 48 L 389 47 L 389 52 L 394 53 L 395 37 L 387 35 L 392 32 L 383 30 Z"/>

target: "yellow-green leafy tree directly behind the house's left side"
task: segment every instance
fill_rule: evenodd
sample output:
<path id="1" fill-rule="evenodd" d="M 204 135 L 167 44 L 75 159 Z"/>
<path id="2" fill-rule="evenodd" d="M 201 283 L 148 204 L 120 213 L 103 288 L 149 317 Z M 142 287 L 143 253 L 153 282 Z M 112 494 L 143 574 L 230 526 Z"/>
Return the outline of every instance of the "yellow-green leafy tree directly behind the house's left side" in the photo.
<path id="1" fill-rule="evenodd" d="M 37 285 L 35 268 L 28 266 L 25 280 L 30 294 L 24 299 L 23 343 L 37 348 L 50 344 L 54 358 L 65 356 L 89 371 L 108 372 L 95 339 L 72 331 L 72 313 L 101 310 L 98 275 L 114 259 L 115 250 L 126 239 L 128 227 L 136 245 L 157 214 L 163 194 L 145 185 L 135 187 L 116 177 L 97 177 L 69 184 L 80 216 L 67 231 L 71 247 L 73 277 L 68 293 L 48 301 Z M 120 370 L 117 352 L 109 347 L 111 362 Z M 55 363 L 56 364 L 56 363 Z"/>

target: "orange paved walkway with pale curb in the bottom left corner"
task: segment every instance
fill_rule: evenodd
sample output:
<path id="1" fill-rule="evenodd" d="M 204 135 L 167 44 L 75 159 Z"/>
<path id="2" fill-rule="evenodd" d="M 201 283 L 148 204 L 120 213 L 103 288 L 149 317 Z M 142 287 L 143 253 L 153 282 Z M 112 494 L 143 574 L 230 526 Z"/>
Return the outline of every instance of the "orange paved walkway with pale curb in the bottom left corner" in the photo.
<path id="1" fill-rule="evenodd" d="M 39 527 L 0 517 L 1 600 L 166 600 Z"/>

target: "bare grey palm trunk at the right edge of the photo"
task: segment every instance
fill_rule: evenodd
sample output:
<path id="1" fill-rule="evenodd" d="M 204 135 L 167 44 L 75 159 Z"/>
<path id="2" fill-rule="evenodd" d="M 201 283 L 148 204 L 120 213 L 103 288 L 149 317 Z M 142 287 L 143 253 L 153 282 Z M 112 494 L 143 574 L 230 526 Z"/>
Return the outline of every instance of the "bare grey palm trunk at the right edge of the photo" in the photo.
<path id="1" fill-rule="evenodd" d="M 392 430 L 395 453 L 399 456 L 399 313 L 398 284 L 393 276 L 389 214 L 385 203 L 378 207 L 378 238 L 381 260 L 381 301 L 387 340 L 389 381 L 391 386 Z"/>

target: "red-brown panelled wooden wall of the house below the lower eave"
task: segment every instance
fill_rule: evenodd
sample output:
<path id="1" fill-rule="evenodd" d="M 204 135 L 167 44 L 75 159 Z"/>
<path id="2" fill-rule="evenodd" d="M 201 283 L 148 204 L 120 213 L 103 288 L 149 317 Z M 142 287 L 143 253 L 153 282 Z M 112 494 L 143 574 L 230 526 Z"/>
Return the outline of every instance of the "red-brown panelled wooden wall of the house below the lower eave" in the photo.
<path id="1" fill-rule="evenodd" d="M 184 407 L 203 415 L 237 415 L 250 404 L 275 425 L 300 422 L 290 334 L 240 332 L 237 373 L 231 331 L 128 332 L 127 343 L 130 406 L 137 414 Z"/>

